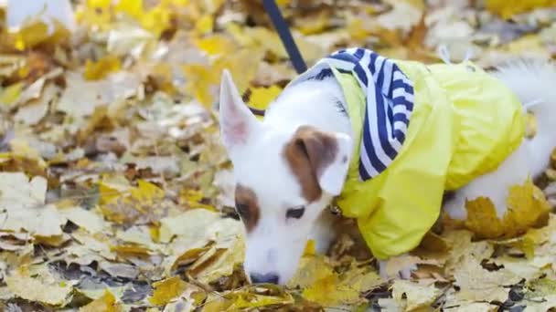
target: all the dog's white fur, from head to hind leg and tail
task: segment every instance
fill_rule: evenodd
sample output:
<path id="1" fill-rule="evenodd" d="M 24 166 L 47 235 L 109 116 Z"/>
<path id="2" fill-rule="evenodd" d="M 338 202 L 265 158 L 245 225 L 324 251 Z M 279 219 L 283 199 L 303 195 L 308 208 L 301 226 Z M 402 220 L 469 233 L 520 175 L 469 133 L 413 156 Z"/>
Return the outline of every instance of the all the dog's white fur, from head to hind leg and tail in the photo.
<path id="1" fill-rule="evenodd" d="M 235 86 L 227 75 L 222 78 L 224 91 L 220 98 L 222 140 L 234 165 L 236 181 L 256 193 L 261 207 L 261 219 L 247 236 L 244 267 L 248 276 L 275 274 L 279 283 L 285 284 L 294 275 L 309 237 L 317 239 L 321 251 L 331 241 L 330 231 L 326 231 L 329 220 L 322 212 L 341 190 L 347 167 L 328 168 L 335 173 L 325 172 L 325 181 L 319 182 L 326 186 L 327 192 L 314 203 L 306 203 L 301 185 L 283 158 L 283 147 L 298 127 L 311 125 L 336 133 L 342 146 L 340 150 L 351 153 L 350 123 L 346 113 L 337 106 L 338 100 L 345 104 L 345 99 L 333 78 L 306 81 L 284 91 L 261 122 L 245 109 L 237 91 L 231 91 Z M 556 69 L 546 62 L 515 62 L 500 68 L 497 76 L 526 106 L 533 101 L 537 103 L 529 109 L 537 116 L 538 134 L 533 140 L 524 140 L 496 172 L 485 174 L 458 190 L 445 206 L 453 217 L 465 217 L 465 199 L 477 196 L 490 197 L 497 205 L 498 215 L 503 215 L 508 186 L 523 182 L 528 175 L 540 174 L 549 161 L 551 149 L 556 146 L 556 135 L 551 130 L 551 120 L 556 120 L 556 103 L 552 103 L 556 101 Z M 241 129 L 234 126 L 241 124 L 249 129 L 247 134 L 234 132 Z M 286 219 L 287 209 L 298 205 L 306 205 L 304 216 L 299 220 Z M 385 263 L 381 262 L 381 274 L 384 267 Z M 400 276 L 408 278 L 411 270 L 412 267 L 401 270 Z"/>

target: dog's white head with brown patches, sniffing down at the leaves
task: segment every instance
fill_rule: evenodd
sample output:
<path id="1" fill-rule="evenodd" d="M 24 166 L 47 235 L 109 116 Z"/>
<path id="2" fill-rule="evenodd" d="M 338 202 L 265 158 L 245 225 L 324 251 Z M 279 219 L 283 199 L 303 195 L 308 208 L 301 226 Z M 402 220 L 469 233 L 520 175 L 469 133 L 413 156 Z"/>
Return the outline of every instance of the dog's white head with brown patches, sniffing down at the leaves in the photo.
<path id="1" fill-rule="evenodd" d="M 221 140 L 234 167 L 245 224 L 244 268 L 254 283 L 285 284 L 319 214 L 343 188 L 351 138 L 310 126 L 276 129 L 243 103 L 230 73 L 220 85 Z"/>

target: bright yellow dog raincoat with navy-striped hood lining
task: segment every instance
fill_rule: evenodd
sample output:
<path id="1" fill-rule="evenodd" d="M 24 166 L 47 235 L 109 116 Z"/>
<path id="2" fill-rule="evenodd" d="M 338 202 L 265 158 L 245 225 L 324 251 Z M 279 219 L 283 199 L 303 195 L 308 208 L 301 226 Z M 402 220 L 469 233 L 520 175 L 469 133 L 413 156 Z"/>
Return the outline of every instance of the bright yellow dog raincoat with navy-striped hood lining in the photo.
<path id="1" fill-rule="evenodd" d="M 420 244 L 444 191 L 495 170 L 524 137 L 519 99 L 471 62 L 425 66 L 352 48 L 293 83 L 326 71 L 344 91 L 359 156 L 337 205 L 379 259 Z"/>

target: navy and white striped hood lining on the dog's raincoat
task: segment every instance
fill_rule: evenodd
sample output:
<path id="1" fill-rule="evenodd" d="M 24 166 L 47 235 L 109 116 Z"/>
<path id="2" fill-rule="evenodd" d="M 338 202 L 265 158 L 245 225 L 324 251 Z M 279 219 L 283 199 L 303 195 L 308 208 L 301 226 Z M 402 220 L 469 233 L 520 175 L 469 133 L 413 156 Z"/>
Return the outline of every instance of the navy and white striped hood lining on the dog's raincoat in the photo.
<path id="1" fill-rule="evenodd" d="M 358 170 L 362 181 L 369 180 L 386 170 L 401 150 L 413 111 L 412 81 L 389 58 L 362 48 L 321 59 L 310 76 L 329 67 L 352 73 L 366 94 Z"/>

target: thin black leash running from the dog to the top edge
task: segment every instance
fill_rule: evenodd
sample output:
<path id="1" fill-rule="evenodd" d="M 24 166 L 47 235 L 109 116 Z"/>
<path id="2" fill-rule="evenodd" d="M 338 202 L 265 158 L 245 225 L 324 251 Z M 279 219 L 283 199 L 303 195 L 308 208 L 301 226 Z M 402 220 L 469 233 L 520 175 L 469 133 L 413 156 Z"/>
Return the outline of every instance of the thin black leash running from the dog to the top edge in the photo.
<path id="1" fill-rule="evenodd" d="M 274 0 L 262 0 L 262 5 L 264 6 L 266 14 L 271 18 L 274 29 L 278 33 L 278 36 L 280 36 L 280 40 L 282 40 L 283 47 L 288 53 L 288 56 L 290 57 L 290 61 L 292 62 L 295 71 L 298 74 L 305 72 L 305 70 L 307 70 L 307 66 L 305 65 L 305 61 L 301 56 L 301 52 L 299 52 L 299 48 L 297 48 L 297 45 L 295 44 L 294 36 L 292 36 L 290 27 L 283 19 L 280 8 L 278 7 L 278 5 L 276 5 L 276 2 Z M 249 109 L 251 109 L 251 112 L 255 115 L 264 116 L 263 109 Z"/>

